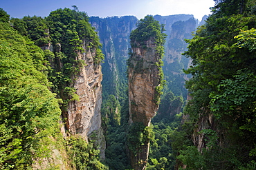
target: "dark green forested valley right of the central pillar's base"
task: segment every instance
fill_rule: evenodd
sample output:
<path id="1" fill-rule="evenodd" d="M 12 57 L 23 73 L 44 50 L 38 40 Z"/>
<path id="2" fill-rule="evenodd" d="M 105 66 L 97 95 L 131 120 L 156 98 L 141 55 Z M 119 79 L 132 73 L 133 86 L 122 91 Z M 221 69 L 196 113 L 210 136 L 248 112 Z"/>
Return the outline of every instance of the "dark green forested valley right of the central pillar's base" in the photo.
<path id="1" fill-rule="evenodd" d="M 182 105 L 181 97 L 174 96 L 172 92 L 162 96 L 158 114 L 152 118 L 155 139 L 150 146 L 147 169 L 174 169 L 177 152 L 174 143 L 180 136 L 176 129 L 180 126 L 182 117 L 177 111 L 181 111 Z M 163 161 L 165 159 L 166 161 Z"/>

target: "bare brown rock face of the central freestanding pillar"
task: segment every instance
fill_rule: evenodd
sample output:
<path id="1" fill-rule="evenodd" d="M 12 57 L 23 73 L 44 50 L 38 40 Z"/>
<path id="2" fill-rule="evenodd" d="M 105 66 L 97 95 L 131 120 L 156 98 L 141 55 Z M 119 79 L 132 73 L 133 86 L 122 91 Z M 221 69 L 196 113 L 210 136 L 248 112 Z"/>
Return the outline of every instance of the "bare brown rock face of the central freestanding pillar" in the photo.
<path id="1" fill-rule="evenodd" d="M 134 54 L 129 60 L 129 124 L 142 122 L 149 126 L 158 110 L 156 87 L 160 85 L 160 76 L 155 64 L 159 60 L 156 44 L 152 39 L 146 44 L 147 48 L 132 47 Z"/>

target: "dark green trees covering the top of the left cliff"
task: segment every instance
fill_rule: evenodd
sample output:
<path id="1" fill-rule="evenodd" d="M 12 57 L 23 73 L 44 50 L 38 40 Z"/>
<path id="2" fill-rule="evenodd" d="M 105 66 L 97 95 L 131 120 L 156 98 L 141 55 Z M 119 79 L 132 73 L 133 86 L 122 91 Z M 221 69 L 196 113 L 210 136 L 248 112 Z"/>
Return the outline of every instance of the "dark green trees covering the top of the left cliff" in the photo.
<path id="1" fill-rule="evenodd" d="M 72 79 L 80 72 L 83 62 L 77 59 L 78 53 L 90 50 L 95 53 L 93 63 L 99 65 L 104 56 L 97 33 L 88 22 L 85 12 L 68 8 L 58 9 L 42 17 L 24 17 L 11 22 L 20 34 L 28 36 L 40 47 L 50 46 L 53 52 L 46 52 L 52 69 L 48 76 L 53 83 L 52 90 L 64 100 L 79 100 L 73 89 Z"/>

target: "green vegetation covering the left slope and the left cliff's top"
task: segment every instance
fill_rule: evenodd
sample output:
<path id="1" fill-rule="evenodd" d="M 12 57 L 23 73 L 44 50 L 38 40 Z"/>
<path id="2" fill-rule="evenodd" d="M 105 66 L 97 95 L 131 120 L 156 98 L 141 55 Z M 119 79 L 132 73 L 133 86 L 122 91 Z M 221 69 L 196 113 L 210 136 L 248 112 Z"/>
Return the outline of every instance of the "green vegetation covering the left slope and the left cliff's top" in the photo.
<path id="1" fill-rule="evenodd" d="M 0 32 L 0 169 L 107 169 L 91 143 L 60 134 L 61 106 L 78 100 L 77 54 L 94 52 L 95 67 L 103 59 L 86 14 L 65 8 L 9 19 L 0 9 Z"/>

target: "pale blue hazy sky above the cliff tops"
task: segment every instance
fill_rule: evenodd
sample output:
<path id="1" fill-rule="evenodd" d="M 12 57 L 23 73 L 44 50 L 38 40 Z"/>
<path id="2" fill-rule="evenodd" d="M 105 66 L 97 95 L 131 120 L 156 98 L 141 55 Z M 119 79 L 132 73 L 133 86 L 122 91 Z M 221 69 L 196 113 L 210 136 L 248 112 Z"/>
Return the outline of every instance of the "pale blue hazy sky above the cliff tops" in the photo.
<path id="1" fill-rule="evenodd" d="M 201 21 L 203 15 L 210 14 L 209 8 L 214 6 L 213 0 L 0 0 L 10 17 L 22 18 L 47 17 L 58 8 L 72 8 L 86 12 L 89 16 L 111 17 L 134 15 L 138 19 L 147 14 L 194 14 Z"/>

